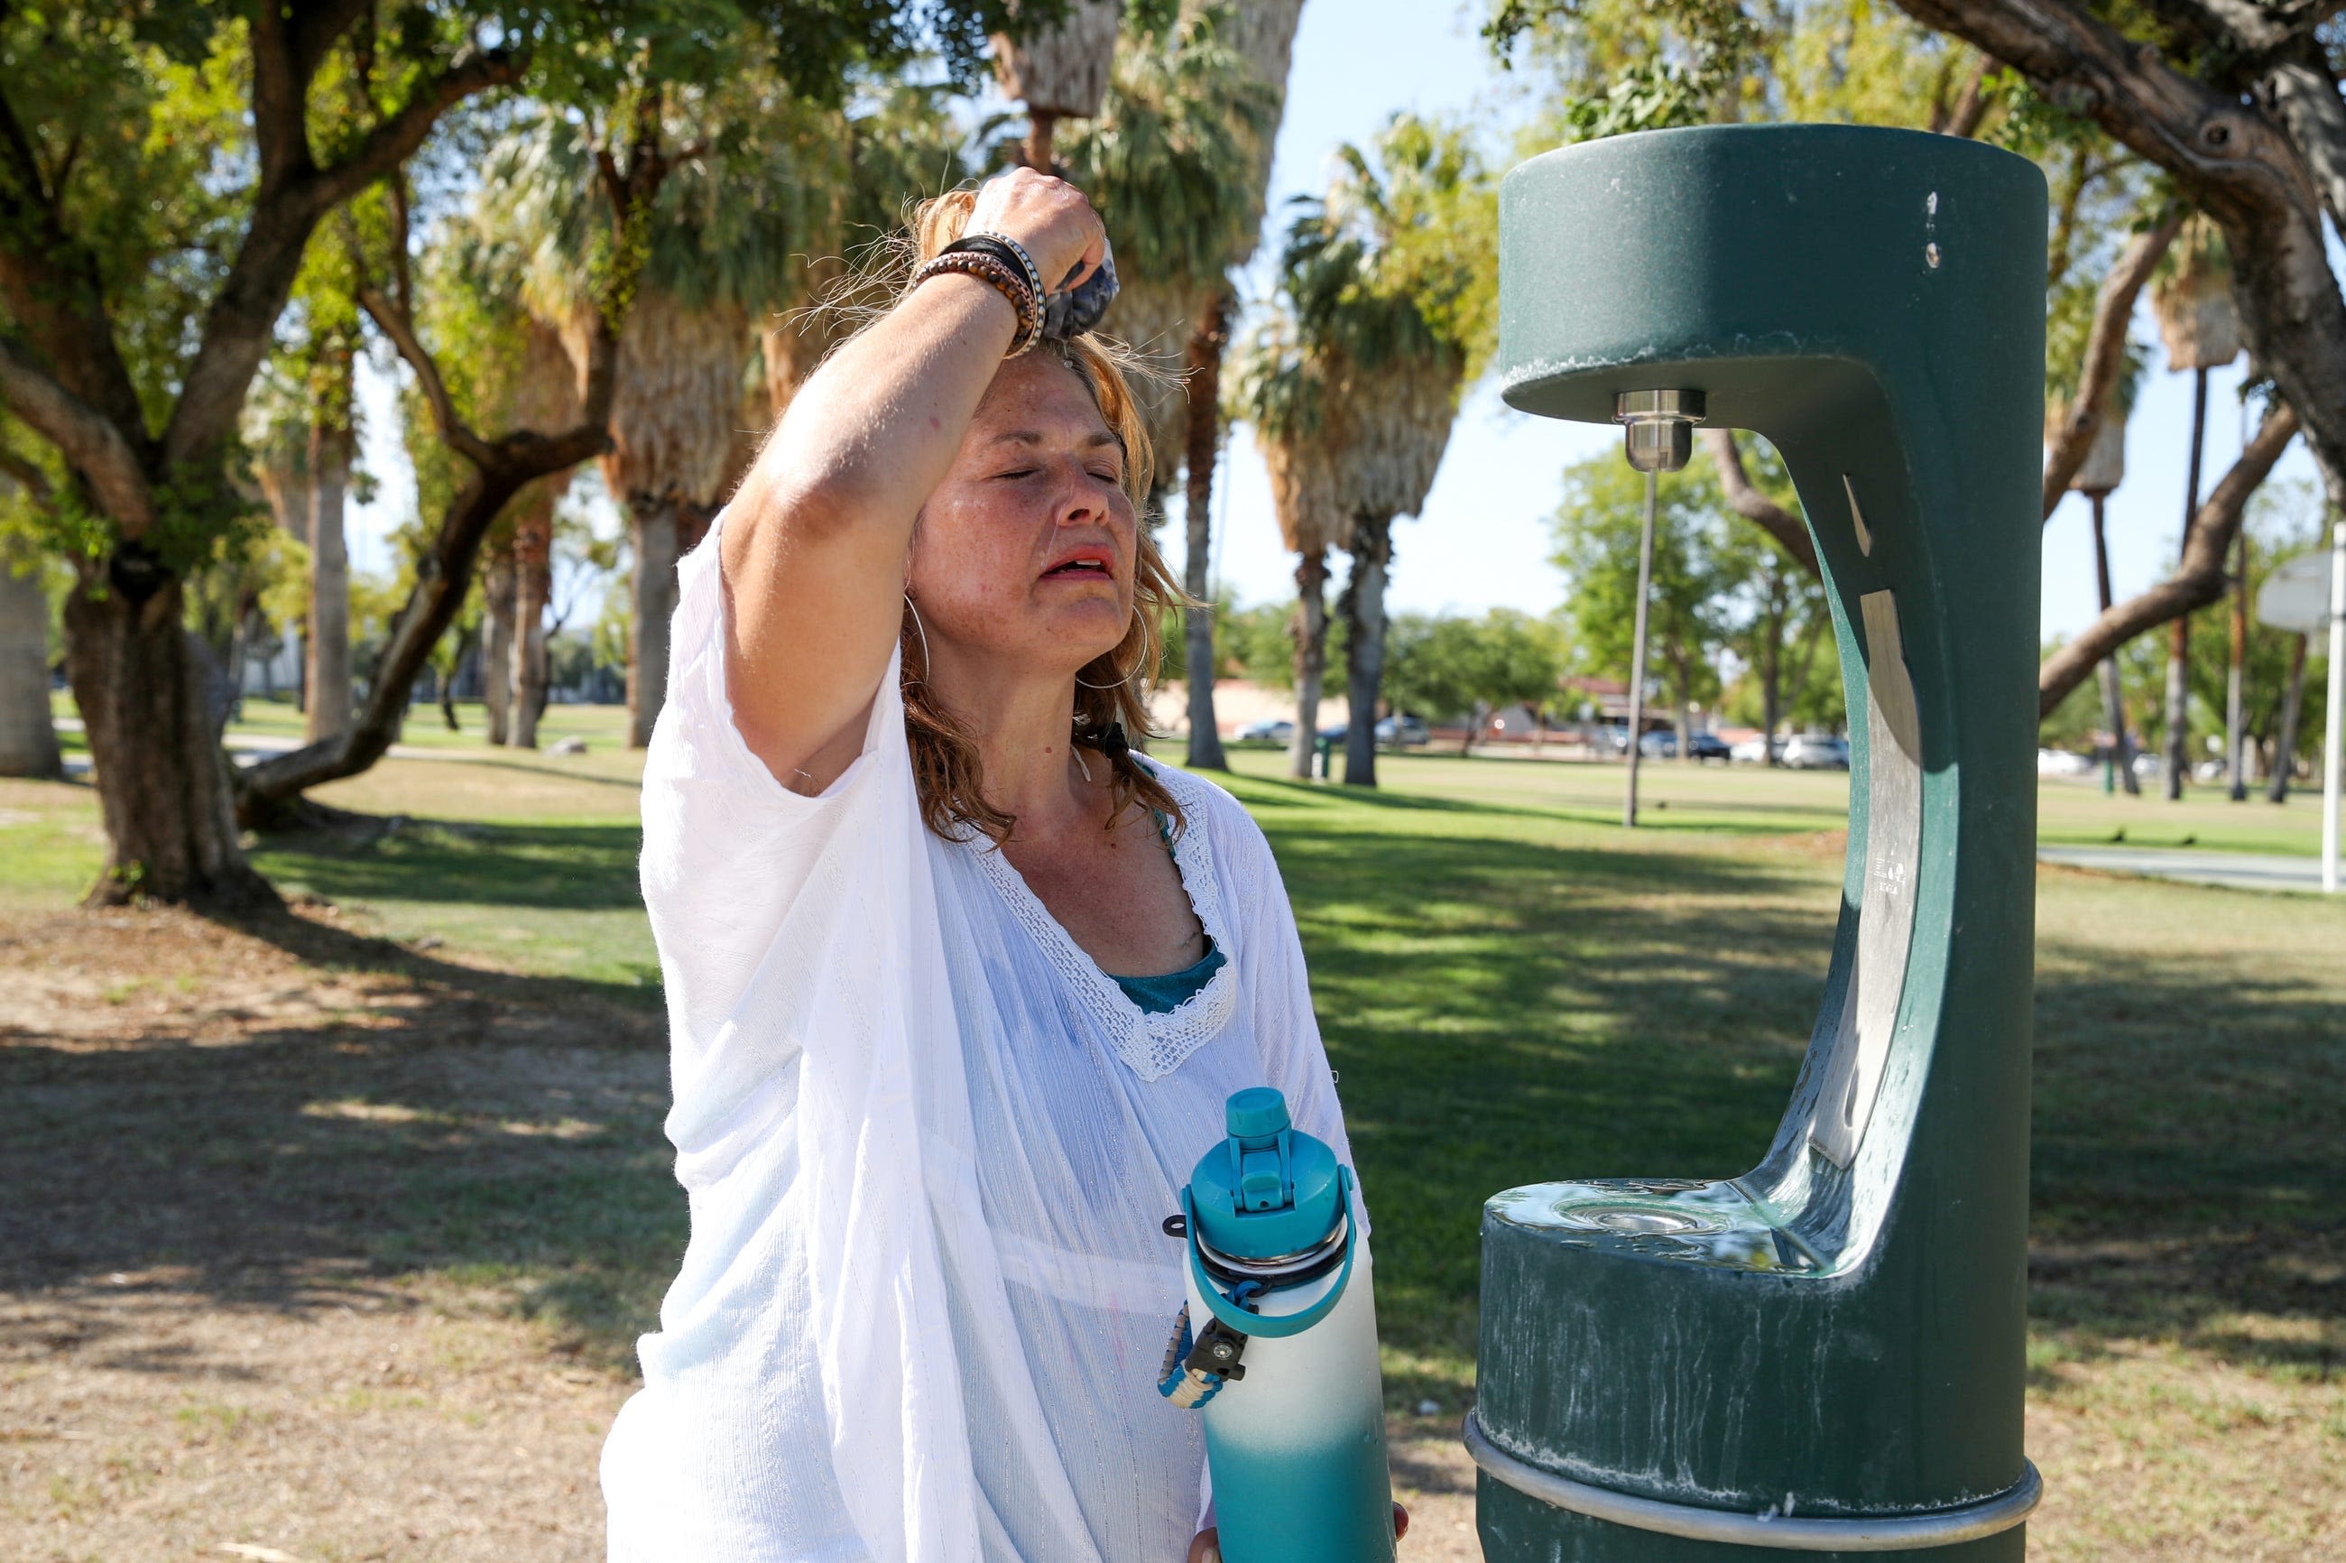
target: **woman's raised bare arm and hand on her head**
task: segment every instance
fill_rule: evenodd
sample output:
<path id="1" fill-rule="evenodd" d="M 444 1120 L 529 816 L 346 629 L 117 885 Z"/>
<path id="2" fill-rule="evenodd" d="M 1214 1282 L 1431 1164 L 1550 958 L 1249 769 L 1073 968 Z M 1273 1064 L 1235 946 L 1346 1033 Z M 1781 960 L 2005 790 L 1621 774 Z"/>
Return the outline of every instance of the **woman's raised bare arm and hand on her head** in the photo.
<path id="1" fill-rule="evenodd" d="M 1030 169 L 978 190 L 969 232 L 1018 239 L 1044 286 L 1105 253 L 1082 192 Z M 903 622 L 913 523 L 1016 333 L 992 284 L 924 282 L 814 371 L 741 481 L 718 556 L 725 685 L 784 786 L 821 791 L 854 760 Z"/>

